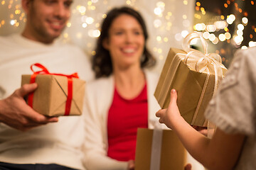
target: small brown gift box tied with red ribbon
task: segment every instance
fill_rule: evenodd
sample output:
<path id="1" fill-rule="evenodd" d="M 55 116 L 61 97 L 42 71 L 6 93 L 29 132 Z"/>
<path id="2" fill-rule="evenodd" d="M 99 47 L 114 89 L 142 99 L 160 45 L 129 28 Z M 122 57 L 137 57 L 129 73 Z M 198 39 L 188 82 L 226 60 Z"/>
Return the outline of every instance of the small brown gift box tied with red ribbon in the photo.
<path id="1" fill-rule="evenodd" d="M 34 72 L 33 66 L 41 68 Z M 28 105 L 43 115 L 81 115 L 85 81 L 78 74 L 52 74 L 41 64 L 31 65 L 32 75 L 22 75 L 21 85 L 36 82 L 38 88 L 28 95 Z"/>

